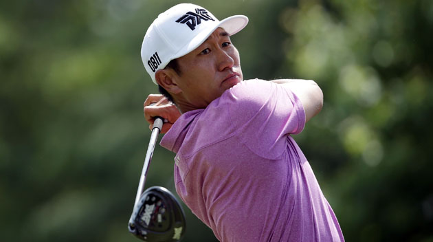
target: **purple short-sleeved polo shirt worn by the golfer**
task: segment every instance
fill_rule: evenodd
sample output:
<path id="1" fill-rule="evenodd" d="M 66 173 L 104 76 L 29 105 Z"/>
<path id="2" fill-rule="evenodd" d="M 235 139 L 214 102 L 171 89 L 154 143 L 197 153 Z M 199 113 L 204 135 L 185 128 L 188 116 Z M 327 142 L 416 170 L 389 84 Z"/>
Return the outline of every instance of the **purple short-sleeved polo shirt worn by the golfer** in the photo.
<path id="1" fill-rule="evenodd" d="M 344 241 L 290 136 L 304 124 L 289 89 L 257 79 L 184 113 L 161 141 L 176 153 L 177 194 L 219 241 Z"/>

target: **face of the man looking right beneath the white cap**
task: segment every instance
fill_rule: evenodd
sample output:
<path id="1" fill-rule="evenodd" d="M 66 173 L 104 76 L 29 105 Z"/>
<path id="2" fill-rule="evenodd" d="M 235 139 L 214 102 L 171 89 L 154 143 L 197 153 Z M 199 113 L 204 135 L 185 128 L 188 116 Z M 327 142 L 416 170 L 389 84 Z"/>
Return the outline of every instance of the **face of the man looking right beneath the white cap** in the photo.
<path id="1" fill-rule="evenodd" d="M 222 28 L 177 63 L 181 74 L 173 76 L 180 90 L 176 103 L 188 111 L 207 107 L 243 80 L 239 52 Z"/>

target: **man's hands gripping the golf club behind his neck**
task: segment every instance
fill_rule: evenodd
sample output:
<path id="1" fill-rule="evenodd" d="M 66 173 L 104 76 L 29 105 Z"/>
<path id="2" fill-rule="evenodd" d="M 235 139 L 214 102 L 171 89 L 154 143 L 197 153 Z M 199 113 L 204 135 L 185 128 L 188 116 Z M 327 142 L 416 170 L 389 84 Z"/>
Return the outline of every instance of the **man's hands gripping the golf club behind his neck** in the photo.
<path id="1" fill-rule="evenodd" d="M 155 105 L 150 106 L 152 103 L 155 103 Z M 153 129 L 155 116 L 164 118 L 161 133 L 167 133 L 181 115 L 175 104 L 169 102 L 162 94 L 149 95 L 144 101 L 143 107 L 144 118 L 150 124 L 149 129 Z"/>

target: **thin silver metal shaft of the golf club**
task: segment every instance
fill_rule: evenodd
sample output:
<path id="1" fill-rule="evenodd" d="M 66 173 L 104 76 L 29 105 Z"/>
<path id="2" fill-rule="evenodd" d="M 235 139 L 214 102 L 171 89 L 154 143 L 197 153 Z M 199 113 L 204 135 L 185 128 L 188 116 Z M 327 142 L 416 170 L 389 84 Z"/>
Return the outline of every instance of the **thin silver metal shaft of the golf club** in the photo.
<path id="1" fill-rule="evenodd" d="M 144 158 L 144 165 L 143 165 L 142 175 L 140 176 L 140 182 L 138 183 L 137 195 L 135 195 L 134 208 L 135 206 L 137 206 L 137 203 L 138 201 L 140 201 L 140 197 L 144 192 L 144 183 L 146 182 L 147 171 L 151 164 L 153 151 L 155 150 L 156 142 L 158 140 L 158 135 L 162 129 L 163 123 L 164 121 L 160 117 L 156 117 L 155 122 L 153 123 L 151 140 L 149 141 L 149 146 L 147 148 L 146 158 Z"/>

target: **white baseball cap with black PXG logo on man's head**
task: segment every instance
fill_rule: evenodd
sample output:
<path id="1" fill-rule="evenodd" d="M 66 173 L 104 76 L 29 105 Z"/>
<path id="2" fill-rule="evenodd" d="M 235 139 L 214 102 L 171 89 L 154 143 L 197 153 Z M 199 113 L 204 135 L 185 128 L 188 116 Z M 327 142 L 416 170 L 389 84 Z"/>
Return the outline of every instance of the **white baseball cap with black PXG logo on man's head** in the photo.
<path id="1" fill-rule="evenodd" d="M 148 28 L 142 43 L 142 61 L 153 83 L 155 73 L 173 59 L 199 47 L 217 28 L 229 35 L 241 31 L 248 23 L 243 15 L 219 21 L 208 10 L 191 3 L 180 3 L 159 14 Z"/>

